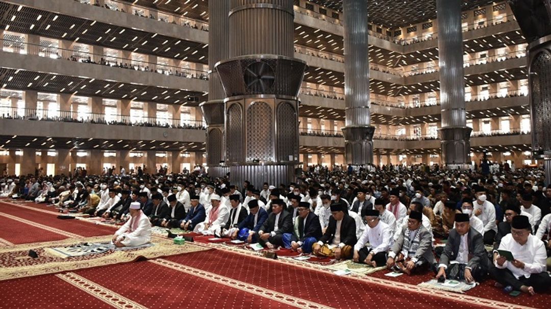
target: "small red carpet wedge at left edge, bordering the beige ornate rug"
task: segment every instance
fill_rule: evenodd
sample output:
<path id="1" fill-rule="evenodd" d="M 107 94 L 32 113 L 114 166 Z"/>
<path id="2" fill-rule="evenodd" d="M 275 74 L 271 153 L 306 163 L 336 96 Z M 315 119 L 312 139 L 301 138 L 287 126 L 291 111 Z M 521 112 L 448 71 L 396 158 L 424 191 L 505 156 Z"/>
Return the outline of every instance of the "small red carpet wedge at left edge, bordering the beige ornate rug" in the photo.
<path id="1" fill-rule="evenodd" d="M 18 245 L 20 243 L 62 240 L 67 237 L 14 219 L 2 217 L 0 238 Z"/>

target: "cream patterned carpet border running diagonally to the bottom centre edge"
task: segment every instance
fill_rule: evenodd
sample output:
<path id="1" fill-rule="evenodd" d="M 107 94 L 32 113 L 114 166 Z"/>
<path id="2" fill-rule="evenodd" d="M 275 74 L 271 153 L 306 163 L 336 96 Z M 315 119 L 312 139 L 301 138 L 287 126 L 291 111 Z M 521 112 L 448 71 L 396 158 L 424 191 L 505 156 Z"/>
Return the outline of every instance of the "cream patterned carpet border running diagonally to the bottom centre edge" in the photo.
<path id="1" fill-rule="evenodd" d="M 261 286 L 252 285 L 244 281 L 224 277 L 222 275 L 215 274 L 215 273 L 210 273 L 210 272 L 207 272 L 206 270 L 201 270 L 201 269 L 189 267 L 187 265 L 171 262 L 166 259 L 158 258 L 158 259 L 150 260 L 148 262 L 155 263 L 170 269 L 174 269 L 182 273 L 190 274 L 198 278 L 207 279 L 218 284 L 223 284 L 230 288 L 239 289 L 241 291 L 253 294 L 255 296 L 264 297 L 269 300 L 275 300 L 275 301 L 284 303 L 285 305 L 289 305 L 297 308 L 310 308 L 310 309 L 332 308 L 325 305 L 321 305 L 320 303 L 317 303 L 317 302 L 300 299 L 298 297 L 292 297 L 287 294 L 283 294 L 277 291 L 263 288 Z"/>

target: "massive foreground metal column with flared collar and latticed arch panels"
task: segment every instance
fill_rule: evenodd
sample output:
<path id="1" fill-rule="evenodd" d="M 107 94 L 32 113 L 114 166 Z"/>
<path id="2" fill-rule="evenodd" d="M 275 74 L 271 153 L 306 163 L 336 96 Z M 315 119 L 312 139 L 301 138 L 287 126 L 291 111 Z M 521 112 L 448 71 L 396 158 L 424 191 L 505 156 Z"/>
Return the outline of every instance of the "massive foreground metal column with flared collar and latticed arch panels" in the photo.
<path id="1" fill-rule="evenodd" d="M 299 162 L 298 93 L 306 63 L 293 58 L 293 0 L 231 0 L 230 59 L 216 66 L 226 92 L 230 180 L 289 183 Z"/>

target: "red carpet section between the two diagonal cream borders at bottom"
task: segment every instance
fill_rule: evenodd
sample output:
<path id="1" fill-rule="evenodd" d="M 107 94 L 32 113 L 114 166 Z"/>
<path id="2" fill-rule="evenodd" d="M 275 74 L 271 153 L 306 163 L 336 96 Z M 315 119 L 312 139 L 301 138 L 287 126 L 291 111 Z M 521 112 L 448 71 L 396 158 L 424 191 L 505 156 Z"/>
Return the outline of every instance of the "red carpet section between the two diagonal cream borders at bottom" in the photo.
<path id="1" fill-rule="evenodd" d="M 187 254 L 188 257 L 192 255 L 195 253 Z M 150 262 L 83 269 L 75 274 L 148 308 L 288 307 L 275 300 Z"/>

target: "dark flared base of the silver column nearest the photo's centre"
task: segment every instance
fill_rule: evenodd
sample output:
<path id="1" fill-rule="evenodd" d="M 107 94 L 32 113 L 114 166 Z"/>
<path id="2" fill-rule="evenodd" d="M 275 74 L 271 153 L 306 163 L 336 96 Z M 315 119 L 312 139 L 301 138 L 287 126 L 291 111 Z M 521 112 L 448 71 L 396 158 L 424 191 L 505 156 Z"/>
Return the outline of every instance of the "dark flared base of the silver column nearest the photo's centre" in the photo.
<path id="1" fill-rule="evenodd" d="M 342 131 L 346 164 L 373 164 L 373 134 L 375 133 L 375 127 L 348 126 L 342 128 Z"/>

